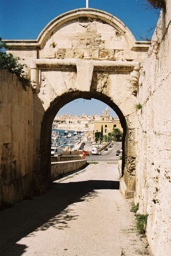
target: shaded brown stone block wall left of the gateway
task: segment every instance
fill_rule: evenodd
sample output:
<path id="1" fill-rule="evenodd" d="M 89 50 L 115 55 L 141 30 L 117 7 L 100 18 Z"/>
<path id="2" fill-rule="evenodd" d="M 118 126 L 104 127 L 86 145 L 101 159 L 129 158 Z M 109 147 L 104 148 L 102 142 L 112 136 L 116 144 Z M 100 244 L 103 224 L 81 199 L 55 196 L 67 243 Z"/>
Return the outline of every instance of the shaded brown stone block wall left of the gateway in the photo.
<path id="1" fill-rule="evenodd" d="M 32 88 L 25 91 L 16 75 L 0 69 L 0 205 L 32 188 Z"/>

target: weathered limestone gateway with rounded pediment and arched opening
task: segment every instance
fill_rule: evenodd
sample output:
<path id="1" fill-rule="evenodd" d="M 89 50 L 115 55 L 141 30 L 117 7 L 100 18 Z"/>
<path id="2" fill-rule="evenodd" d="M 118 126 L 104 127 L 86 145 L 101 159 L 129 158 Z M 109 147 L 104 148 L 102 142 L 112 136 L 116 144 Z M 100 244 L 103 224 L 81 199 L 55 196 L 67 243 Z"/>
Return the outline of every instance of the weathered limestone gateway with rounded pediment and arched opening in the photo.
<path id="1" fill-rule="evenodd" d="M 135 190 L 137 92 L 148 43 L 135 41 L 107 12 L 76 9 L 52 20 L 37 40 L 6 40 L 25 58 L 33 88 L 33 181 L 50 182 L 51 125 L 60 108 L 77 98 L 98 99 L 115 110 L 123 127 L 123 182 Z"/>

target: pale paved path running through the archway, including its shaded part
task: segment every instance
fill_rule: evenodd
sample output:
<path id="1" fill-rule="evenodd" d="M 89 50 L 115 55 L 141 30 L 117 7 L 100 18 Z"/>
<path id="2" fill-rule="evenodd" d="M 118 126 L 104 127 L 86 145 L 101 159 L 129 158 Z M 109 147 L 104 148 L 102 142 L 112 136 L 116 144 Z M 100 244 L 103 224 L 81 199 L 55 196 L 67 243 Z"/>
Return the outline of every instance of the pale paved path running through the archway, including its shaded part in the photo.
<path id="1" fill-rule="evenodd" d="M 137 233 L 122 231 L 135 217 L 118 176 L 117 164 L 89 164 L 47 194 L 0 212 L 0 255 L 147 255 Z"/>

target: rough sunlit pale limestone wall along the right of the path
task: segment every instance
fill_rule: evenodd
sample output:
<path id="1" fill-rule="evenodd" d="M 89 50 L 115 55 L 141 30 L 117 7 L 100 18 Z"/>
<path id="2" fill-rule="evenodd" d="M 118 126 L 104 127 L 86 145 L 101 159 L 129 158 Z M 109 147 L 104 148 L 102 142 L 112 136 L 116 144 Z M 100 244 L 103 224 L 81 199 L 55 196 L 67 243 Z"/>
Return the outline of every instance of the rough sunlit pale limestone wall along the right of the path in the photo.
<path id="1" fill-rule="evenodd" d="M 147 239 L 155 256 L 171 253 L 171 4 L 161 12 L 140 76 L 136 202 L 148 213 Z M 157 34 L 157 35 L 156 35 Z M 142 83 L 142 84 L 141 84 Z"/>

